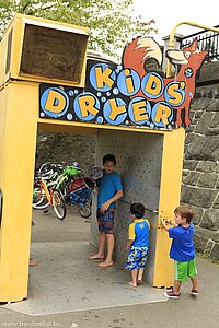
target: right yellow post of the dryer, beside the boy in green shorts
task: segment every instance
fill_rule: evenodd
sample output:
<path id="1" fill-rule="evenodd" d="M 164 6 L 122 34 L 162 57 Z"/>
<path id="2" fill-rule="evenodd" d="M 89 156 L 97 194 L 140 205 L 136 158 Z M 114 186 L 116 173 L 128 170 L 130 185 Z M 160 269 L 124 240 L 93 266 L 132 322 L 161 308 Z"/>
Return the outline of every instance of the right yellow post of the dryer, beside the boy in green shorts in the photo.
<path id="1" fill-rule="evenodd" d="M 172 218 L 180 204 L 185 129 L 164 132 L 161 167 L 159 220 Z M 171 239 L 158 222 L 153 285 L 173 285 L 173 260 L 169 258 Z"/>

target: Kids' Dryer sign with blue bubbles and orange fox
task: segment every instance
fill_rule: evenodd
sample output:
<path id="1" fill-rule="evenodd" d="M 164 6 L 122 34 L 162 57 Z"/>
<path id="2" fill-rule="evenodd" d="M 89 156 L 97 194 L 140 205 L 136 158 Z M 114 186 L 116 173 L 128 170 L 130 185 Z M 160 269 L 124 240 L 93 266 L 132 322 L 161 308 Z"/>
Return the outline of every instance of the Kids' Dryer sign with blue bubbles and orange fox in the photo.
<path id="1" fill-rule="evenodd" d="M 207 51 L 197 40 L 183 50 L 168 50 L 175 75 L 147 71 L 147 61 L 162 65 L 159 45 L 150 37 L 128 44 L 122 65 L 88 60 L 84 89 L 39 85 L 39 117 L 123 127 L 171 130 L 187 127 L 195 79 Z"/>

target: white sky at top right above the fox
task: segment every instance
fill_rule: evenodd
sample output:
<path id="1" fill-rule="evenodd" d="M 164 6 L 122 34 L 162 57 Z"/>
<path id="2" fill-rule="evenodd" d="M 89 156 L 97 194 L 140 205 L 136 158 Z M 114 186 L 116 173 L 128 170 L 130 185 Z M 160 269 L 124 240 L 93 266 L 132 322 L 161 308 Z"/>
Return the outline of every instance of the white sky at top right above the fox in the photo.
<path id="1" fill-rule="evenodd" d="M 142 16 L 142 21 L 155 20 L 152 26 L 159 30 L 151 34 L 162 45 L 162 37 L 170 35 L 173 27 L 183 21 L 201 24 L 207 27 L 219 25 L 218 0 L 134 0 L 134 15 Z M 189 25 L 176 28 L 176 34 L 189 35 L 203 31 Z"/>

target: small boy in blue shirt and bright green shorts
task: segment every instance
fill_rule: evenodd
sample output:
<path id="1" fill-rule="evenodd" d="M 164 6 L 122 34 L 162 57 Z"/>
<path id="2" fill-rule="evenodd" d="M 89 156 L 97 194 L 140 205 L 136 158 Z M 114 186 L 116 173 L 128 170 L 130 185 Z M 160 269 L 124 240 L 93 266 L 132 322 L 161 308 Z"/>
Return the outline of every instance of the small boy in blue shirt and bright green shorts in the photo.
<path id="1" fill-rule="evenodd" d="M 174 211 L 175 222 L 163 219 L 161 221 L 163 227 L 172 238 L 170 258 L 175 263 L 174 288 L 164 293 L 169 298 L 178 298 L 181 293 L 181 284 L 187 277 L 192 281 L 192 295 L 198 295 L 197 290 L 197 270 L 195 262 L 195 246 L 193 243 L 194 225 L 193 210 L 187 206 L 180 206 Z M 168 224 L 173 226 L 170 226 Z"/>

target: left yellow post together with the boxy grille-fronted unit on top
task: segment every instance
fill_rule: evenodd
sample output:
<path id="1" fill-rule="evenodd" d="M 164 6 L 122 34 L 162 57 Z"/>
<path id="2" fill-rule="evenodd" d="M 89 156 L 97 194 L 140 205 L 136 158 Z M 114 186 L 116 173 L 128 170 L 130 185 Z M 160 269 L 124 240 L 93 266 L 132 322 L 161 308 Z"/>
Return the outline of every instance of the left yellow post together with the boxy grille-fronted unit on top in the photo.
<path id="1" fill-rule="evenodd" d="M 22 14 L 0 44 L 0 302 L 27 296 L 39 83 L 83 87 L 87 45 L 85 27 Z"/>

